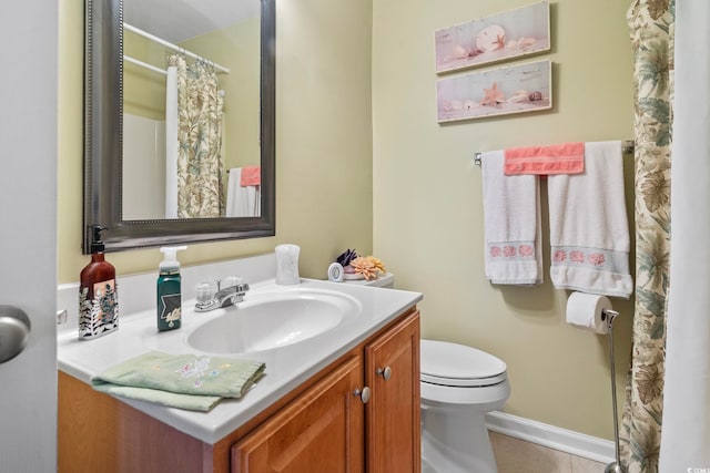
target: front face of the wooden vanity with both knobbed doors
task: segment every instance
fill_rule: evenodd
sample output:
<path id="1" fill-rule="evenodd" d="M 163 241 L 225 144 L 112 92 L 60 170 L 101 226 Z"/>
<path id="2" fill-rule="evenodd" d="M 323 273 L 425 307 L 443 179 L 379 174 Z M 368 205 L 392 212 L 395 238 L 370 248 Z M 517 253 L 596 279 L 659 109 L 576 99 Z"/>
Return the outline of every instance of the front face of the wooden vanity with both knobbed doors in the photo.
<path id="1" fill-rule="evenodd" d="M 419 409 L 412 311 L 237 442 L 232 473 L 418 473 Z"/>

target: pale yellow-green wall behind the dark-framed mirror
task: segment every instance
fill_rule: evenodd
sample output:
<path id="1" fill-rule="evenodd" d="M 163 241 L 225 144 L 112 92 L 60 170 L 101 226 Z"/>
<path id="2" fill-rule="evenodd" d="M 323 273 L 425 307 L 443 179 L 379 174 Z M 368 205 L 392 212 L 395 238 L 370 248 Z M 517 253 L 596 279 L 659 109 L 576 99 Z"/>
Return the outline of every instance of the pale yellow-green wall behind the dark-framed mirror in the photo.
<path id="1" fill-rule="evenodd" d="M 82 238 L 83 0 L 60 0 L 58 281 L 79 279 Z M 301 245 L 324 278 L 345 248 L 372 250 L 372 4 L 278 2 L 276 236 L 193 245 L 183 265 Z M 317 14 L 314 14 L 317 12 Z M 119 275 L 153 271 L 158 249 L 108 255 Z"/>

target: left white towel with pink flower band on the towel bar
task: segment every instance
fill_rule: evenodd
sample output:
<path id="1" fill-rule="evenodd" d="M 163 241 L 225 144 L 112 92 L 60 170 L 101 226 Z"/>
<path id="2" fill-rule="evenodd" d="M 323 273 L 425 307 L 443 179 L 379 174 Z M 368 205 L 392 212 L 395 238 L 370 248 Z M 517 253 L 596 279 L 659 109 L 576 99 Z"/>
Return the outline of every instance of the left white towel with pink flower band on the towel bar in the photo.
<path id="1" fill-rule="evenodd" d="M 538 177 L 506 176 L 504 152 L 481 156 L 486 277 L 493 284 L 542 282 Z"/>

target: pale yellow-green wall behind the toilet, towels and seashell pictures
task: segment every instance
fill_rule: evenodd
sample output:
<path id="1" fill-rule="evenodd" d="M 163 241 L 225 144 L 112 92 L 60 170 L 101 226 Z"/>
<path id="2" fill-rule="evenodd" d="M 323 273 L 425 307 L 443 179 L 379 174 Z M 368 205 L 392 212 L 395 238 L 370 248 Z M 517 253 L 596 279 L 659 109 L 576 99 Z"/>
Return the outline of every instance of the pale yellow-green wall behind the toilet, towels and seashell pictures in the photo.
<path id="1" fill-rule="evenodd" d="M 475 346 L 507 362 L 507 412 L 611 439 L 606 338 L 566 325 L 567 292 L 549 282 L 510 288 L 484 277 L 480 168 L 473 156 L 509 146 L 631 138 L 628 2 L 551 2 L 552 50 L 537 59 L 554 63 L 552 111 L 436 122 L 434 31 L 529 3 L 374 1 L 374 251 L 398 287 L 424 292 L 424 337 Z M 626 164 L 632 215 L 631 156 Z M 622 312 L 615 331 L 622 393 L 632 305 L 613 302 Z"/>

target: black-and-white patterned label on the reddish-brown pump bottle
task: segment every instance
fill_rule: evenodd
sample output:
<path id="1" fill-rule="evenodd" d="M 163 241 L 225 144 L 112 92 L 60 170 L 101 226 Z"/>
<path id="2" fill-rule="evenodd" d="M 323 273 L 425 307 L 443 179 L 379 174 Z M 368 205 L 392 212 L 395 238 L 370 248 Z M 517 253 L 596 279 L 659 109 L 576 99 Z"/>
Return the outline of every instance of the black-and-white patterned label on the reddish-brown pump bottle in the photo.
<path id="1" fill-rule="evenodd" d="M 79 337 L 95 338 L 119 328 L 119 302 L 115 279 L 95 282 L 79 291 Z"/>

